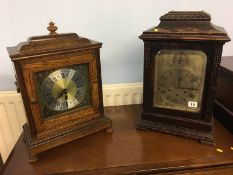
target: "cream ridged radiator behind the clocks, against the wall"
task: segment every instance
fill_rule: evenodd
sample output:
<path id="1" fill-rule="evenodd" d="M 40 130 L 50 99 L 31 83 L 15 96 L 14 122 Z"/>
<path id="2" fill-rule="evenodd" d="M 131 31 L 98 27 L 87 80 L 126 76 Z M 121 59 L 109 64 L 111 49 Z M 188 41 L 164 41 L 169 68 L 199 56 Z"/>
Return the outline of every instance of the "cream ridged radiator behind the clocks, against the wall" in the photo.
<path id="1" fill-rule="evenodd" d="M 142 103 L 140 83 L 103 85 L 104 106 Z M 21 94 L 16 91 L 0 92 L 0 153 L 5 162 L 17 142 L 22 125 L 26 122 Z"/>

